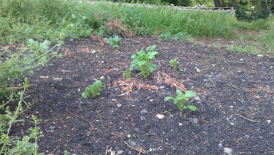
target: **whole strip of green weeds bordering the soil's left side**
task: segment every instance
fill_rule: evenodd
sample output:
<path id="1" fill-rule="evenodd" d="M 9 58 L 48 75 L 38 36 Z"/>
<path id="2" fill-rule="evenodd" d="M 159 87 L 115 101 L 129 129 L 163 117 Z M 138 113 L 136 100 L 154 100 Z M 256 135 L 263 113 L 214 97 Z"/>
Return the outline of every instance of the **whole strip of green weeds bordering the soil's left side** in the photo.
<path id="1" fill-rule="evenodd" d="M 33 73 L 34 68 L 45 66 L 49 60 L 60 56 L 57 51 L 62 41 L 52 48 L 49 45 L 49 40 L 39 43 L 29 39 L 27 46 L 22 45 L 19 51 L 10 51 L 10 47 L 5 47 L 0 52 L 0 154 L 38 154 L 37 141 L 42 135 L 36 116 L 32 116 L 34 127 L 29 128 L 29 134 L 18 137 L 11 133 L 14 123 L 23 121 L 18 116 L 33 105 L 25 102 L 29 97 L 25 96 L 29 80 L 25 78 L 23 82 L 18 81 L 26 73 Z M 16 104 L 16 108 L 10 108 L 11 104 Z"/>

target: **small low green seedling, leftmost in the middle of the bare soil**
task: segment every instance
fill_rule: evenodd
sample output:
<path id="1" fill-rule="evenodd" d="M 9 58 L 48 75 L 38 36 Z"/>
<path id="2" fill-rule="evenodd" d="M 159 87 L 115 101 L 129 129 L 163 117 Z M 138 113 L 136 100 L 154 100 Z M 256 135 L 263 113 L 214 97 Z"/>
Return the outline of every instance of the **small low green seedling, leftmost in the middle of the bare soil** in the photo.
<path id="1" fill-rule="evenodd" d="M 90 94 L 92 98 L 97 97 L 100 95 L 99 91 L 101 91 L 101 88 L 103 87 L 103 82 L 101 82 L 101 80 L 97 80 L 96 82 L 93 82 L 92 85 L 85 88 L 85 91 L 82 93 L 82 97 L 85 99 L 90 98 Z"/>

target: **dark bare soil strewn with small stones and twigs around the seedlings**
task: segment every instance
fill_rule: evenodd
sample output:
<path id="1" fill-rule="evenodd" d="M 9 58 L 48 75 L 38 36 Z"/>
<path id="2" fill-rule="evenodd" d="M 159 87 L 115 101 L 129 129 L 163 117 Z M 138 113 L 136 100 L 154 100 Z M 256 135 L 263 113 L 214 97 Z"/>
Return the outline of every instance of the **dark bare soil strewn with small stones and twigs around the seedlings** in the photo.
<path id="1" fill-rule="evenodd" d="M 125 81 L 132 54 L 150 45 L 159 52 L 153 61 L 158 70 L 146 80 L 135 71 L 131 81 L 150 88 L 125 95 L 117 82 Z M 35 104 L 21 128 L 29 128 L 30 115 L 38 116 L 40 152 L 274 154 L 273 58 L 153 36 L 124 38 L 118 50 L 95 37 L 66 40 L 62 53 L 29 76 Z M 172 69 L 173 58 L 181 71 Z M 164 102 L 176 95 L 174 85 L 159 79 L 164 73 L 196 92 L 187 103 L 197 106 L 195 112 L 184 110 L 180 117 L 173 102 Z M 101 95 L 84 99 L 84 88 L 100 78 Z"/>

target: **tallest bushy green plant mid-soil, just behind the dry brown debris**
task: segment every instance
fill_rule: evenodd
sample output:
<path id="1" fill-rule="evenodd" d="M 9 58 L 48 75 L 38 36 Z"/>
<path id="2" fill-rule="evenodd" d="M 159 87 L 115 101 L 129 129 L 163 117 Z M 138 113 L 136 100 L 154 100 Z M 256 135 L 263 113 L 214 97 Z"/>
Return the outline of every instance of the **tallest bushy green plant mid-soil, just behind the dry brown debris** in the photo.
<path id="1" fill-rule="evenodd" d="M 130 65 L 131 69 L 139 69 L 140 74 L 143 75 L 144 78 L 149 77 L 149 73 L 152 73 L 155 69 L 157 69 L 156 64 L 151 64 L 151 61 L 155 59 L 155 55 L 158 54 L 158 51 L 155 51 L 156 46 L 147 47 L 145 53 L 144 49 L 141 49 L 137 55 L 132 55 L 132 64 Z"/>

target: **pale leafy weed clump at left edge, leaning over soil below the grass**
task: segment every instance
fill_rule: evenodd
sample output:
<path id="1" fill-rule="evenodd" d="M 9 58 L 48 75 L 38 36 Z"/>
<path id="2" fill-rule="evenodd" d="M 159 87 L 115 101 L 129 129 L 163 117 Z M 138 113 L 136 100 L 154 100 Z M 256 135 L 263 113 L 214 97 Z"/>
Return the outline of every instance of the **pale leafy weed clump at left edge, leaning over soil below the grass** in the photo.
<path id="1" fill-rule="evenodd" d="M 22 45 L 20 51 L 12 52 L 7 47 L 1 53 L 5 59 L 0 60 L 0 99 L 8 97 L 14 88 L 20 88 L 20 85 L 15 84 L 15 80 L 22 78 L 25 73 L 33 73 L 36 67 L 45 66 L 52 58 L 60 57 L 57 51 L 62 41 L 51 49 L 49 45 L 49 40 L 38 43 L 38 41 L 29 39 L 27 47 Z M 57 48 L 56 51 L 55 48 Z M 27 49 L 29 49 L 29 54 L 25 54 Z"/>

